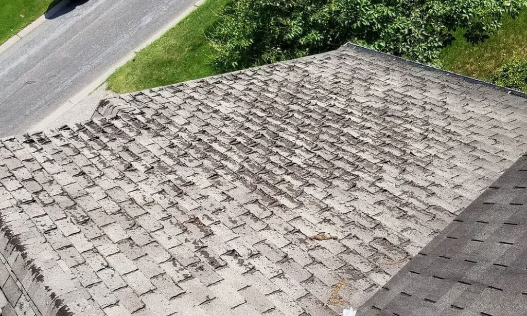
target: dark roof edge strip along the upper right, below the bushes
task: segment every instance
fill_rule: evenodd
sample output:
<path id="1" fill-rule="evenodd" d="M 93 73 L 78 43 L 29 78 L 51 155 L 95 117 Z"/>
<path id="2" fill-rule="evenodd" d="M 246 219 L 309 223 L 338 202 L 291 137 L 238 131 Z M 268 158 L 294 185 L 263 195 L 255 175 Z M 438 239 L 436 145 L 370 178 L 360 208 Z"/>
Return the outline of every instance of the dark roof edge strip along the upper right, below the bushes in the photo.
<path id="1" fill-rule="evenodd" d="M 398 61 L 403 62 L 405 64 L 409 64 L 409 65 L 413 65 L 413 66 L 419 66 L 419 67 L 422 67 L 422 68 L 425 68 L 425 69 L 433 70 L 435 72 L 439 72 L 439 73 L 445 74 L 445 75 L 450 76 L 450 77 L 463 79 L 463 80 L 465 80 L 465 81 L 467 81 L 469 83 L 472 83 L 472 84 L 480 84 L 480 85 L 483 85 L 483 86 L 487 86 L 487 87 L 490 87 L 490 88 L 502 91 L 502 92 L 504 92 L 506 94 L 511 94 L 511 95 L 514 95 L 514 96 L 518 96 L 518 97 L 522 97 L 522 98 L 526 98 L 527 99 L 527 93 L 524 93 L 524 92 L 519 91 L 519 90 L 502 87 L 502 86 L 490 83 L 488 81 L 484 81 L 484 80 L 477 79 L 477 78 L 470 77 L 470 76 L 461 75 L 461 74 L 454 73 L 454 72 L 451 72 L 451 71 L 448 71 L 448 70 L 445 70 L 445 69 L 441 69 L 441 68 L 438 68 L 438 67 L 435 67 L 435 66 L 432 66 L 432 65 L 427 65 L 427 64 L 415 62 L 414 60 L 410 60 L 410 59 L 406 59 L 406 58 L 403 58 L 403 57 L 395 56 L 395 55 L 392 55 L 392 54 L 379 52 L 378 50 L 375 50 L 375 49 L 372 49 L 372 48 L 368 48 L 366 46 L 358 45 L 358 44 L 355 44 L 355 43 L 348 42 L 348 43 L 340 46 L 337 50 L 350 50 L 350 51 L 353 51 L 355 49 L 363 50 L 364 52 L 373 53 L 373 54 L 379 55 L 379 56 L 389 56 L 389 57 L 392 57 L 394 60 L 398 60 Z"/>

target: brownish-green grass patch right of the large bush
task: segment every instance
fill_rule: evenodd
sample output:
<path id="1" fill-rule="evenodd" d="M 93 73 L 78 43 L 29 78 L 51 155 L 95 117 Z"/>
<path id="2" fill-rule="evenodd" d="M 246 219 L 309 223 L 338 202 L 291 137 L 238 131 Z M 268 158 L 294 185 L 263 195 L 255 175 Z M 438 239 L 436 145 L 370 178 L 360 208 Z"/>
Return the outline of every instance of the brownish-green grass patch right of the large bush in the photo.
<path id="1" fill-rule="evenodd" d="M 514 52 L 520 58 L 527 58 L 527 10 L 523 10 L 514 19 L 504 17 L 502 27 L 482 43 L 467 43 L 461 31 L 455 36 L 454 43 L 443 50 L 443 67 L 455 73 L 489 81 Z"/>

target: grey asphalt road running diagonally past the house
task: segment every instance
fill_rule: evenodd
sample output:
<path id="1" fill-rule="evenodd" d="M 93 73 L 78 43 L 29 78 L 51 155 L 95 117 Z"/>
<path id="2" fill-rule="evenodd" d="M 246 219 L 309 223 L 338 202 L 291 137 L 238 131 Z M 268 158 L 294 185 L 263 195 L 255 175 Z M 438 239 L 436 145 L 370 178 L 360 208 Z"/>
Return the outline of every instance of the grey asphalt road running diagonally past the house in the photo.
<path id="1" fill-rule="evenodd" d="M 0 137 L 22 134 L 195 0 L 73 1 L 0 54 Z"/>

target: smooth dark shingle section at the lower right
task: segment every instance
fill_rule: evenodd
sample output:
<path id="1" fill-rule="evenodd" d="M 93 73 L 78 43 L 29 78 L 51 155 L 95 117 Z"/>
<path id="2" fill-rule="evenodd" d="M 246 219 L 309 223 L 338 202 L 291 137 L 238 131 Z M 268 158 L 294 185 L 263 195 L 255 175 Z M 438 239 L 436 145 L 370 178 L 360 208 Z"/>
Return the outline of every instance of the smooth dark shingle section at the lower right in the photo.
<path id="1" fill-rule="evenodd" d="M 527 314 L 527 156 L 522 156 L 358 314 Z"/>

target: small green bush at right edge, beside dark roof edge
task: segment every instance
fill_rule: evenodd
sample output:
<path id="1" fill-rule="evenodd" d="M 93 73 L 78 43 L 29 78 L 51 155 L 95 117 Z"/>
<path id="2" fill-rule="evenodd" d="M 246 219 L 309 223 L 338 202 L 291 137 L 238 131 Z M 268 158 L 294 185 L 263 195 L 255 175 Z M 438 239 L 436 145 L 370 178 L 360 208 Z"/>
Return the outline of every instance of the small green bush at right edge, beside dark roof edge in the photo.
<path id="1" fill-rule="evenodd" d="M 527 92 L 527 59 L 514 55 L 492 77 L 496 85 Z"/>

